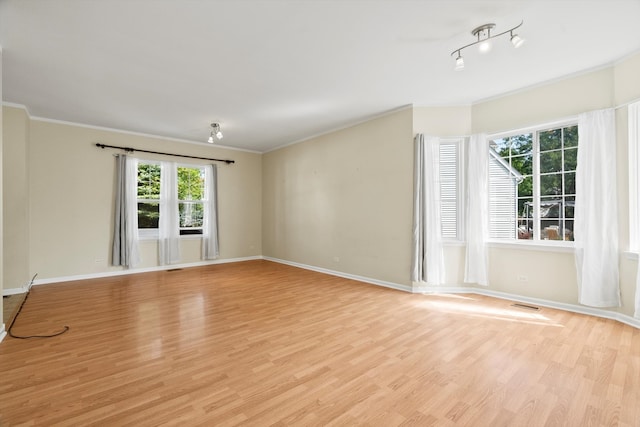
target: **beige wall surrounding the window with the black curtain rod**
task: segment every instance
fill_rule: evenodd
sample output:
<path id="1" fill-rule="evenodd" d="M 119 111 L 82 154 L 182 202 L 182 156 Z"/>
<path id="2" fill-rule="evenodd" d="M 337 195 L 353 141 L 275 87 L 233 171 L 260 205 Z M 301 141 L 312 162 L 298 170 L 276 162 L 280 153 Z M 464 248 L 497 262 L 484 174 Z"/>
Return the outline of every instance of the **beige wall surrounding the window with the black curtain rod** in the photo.
<path id="1" fill-rule="evenodd" d="M 111 262 L 113 233 L 115 150 L 102 150 L 96 142 L 131 146 L 140 149 L 180 153 L 192 156 L 235 160 L 233 165 L 218 163 L 220 258 L 259 256 L 261 247 L 261 155 L 228 150 L 208 145 L 185 144 L 164 139 L 98 130 L 27 117 L 23 128 L 24 110 L 5 107 L 6 134 L 12 140 L 11 158 L 24 164 L 23 151 L 17 141 L 23 138 L 28 145 L 28 173 L 14 167 L 11 182 L 28 185 L 29 199 L 20 199 L 6 207 L 6 215 L 16 218 L 27 209 L 27 231 L 6 234 L 4 246 L 20 247 L 27 251 L 26 266 L 8 266 L 5 277 L 19 278 L 21 283 L 6 283 L 5 288 L 19 287 L 25 279 L 38 273 L 38 279 L 62 278 L 77 275 L 119 271 Z M 25 145 L 26 146 L 26 145 Z M 160 158 L 136 153 L 140 158 Z M 165 159 L 167 157 L 164 157 Z M 180 163 L 205 161 L 171 158 Z M 18 178 L 15 179 L 14 178 Z M 24 183 L 24 180 L 28 184 Z M 5 189 L 6 191 L 6 189 Z M 18 200 L 13 193 L 5 193 Z M 23 193 L 20 193 L 23 194 Z M 27 205 L 25 207 L 25 204 Z M 28 245 L 24 245 L 24 237 Z M 181 264 L 197 263 L 200 258 L 200 239 L 184 238 L 181 242 Z M 140 268 L 155 267 L 157 245 L 141 242 Z M 25 276 L 28 271 L 27 277 Z"/>

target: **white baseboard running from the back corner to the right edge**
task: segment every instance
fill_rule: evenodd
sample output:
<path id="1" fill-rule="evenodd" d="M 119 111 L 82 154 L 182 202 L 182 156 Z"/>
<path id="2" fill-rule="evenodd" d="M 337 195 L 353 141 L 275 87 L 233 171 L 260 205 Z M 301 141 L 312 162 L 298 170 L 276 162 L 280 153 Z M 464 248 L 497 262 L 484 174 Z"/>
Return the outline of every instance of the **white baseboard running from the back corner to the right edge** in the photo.
<path id="1" fill-rule="evenodd" d="M 354 274 L 342 273 L 340 271 L 333 271 L 326 268 L 314 267 L 305 264 L 299 264 L 296 262 L 285 261 L 277 258 L 263 257 L 265 260 L 278 262 L 280 264 L 291 265 L 293 267 L 304 268 L 306 270 L 313 270 L 320 273 L 331 274 L 332 276 L 344 277 L 346 279 L 358 280 L 360 282 L 370 283 L 372 285 L 384 286 L 387 288 L 397 289 L 405 292 L 412 292 L 416 294 L 432 294 L 432 295 L 442 295 L 442 294 L 476 294 L 476 295 L 485 295 L 494 298 L 500 298 L 504 300 L 516 301 L 516 302 L 524 302 L 528 304 L 539 305 L 542 307 L 554 308 L 558 310 L 570 311 L 573 313 L 579 314 L 587 314 L 590 316 L 602 317 L 605 319 L 617 320 L 618 322 L 624 323 L 629 326 L 633 326 L 634 328 L 640 329 L 640 319 L 636 319 L 634 317 L 628 316 L 623 313 L 618 313 L 615 311 L 602 310 L 600 308 L 586 307 L 582 305 L 576 304 L 567 304 L 562 302 L 550 301 L 540 298 L 531 298 L 522 295 L 509 294 L 506 292 L 498 292 L 492 291 L 486 288 L 476 288 L 469 286 L 442 286 L 442 287 L 416 287 L 412 288 L 410 286 L 401 285 L 398 283 L 384 282 L 376 279 L 371 279 L 368 277 L 357 276 Z"/>

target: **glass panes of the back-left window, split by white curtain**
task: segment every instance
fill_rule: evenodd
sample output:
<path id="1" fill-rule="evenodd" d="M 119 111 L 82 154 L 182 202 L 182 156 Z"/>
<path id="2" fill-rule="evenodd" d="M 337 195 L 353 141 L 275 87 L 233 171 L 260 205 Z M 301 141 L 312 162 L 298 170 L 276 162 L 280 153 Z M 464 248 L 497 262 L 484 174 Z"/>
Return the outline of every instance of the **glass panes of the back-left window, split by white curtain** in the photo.
<path id="1" fill-rule="evenodd" d="M 159 163 L 138 164 L 138 230 L 141 236 L 157 237 L 160 219 Z M 204 167 L 177 168 L 180 234 L 202 234 L 204 215 Z"/>

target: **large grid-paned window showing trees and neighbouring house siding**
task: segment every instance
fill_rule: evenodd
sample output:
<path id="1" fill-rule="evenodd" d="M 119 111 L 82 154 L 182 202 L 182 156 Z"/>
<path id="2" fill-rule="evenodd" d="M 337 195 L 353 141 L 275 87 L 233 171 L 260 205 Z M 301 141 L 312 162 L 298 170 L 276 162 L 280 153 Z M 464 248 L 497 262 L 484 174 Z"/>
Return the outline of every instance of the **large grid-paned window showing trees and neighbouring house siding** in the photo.
<path id="1" fill-rule="evenodd" d="M 575 124 L 490 141 L 490 236 L 573 240 Z"/>

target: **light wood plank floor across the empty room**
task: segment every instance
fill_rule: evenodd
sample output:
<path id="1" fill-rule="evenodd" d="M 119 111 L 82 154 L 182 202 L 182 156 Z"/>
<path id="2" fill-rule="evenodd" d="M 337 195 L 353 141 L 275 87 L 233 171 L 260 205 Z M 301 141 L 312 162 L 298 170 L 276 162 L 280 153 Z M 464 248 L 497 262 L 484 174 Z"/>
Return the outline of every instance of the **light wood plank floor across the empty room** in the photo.
<path id="1" fill-rule="evenodd" d="M 34 287 L 0 425 L 634 426 L 640 331 L 268 261 Z"/>

